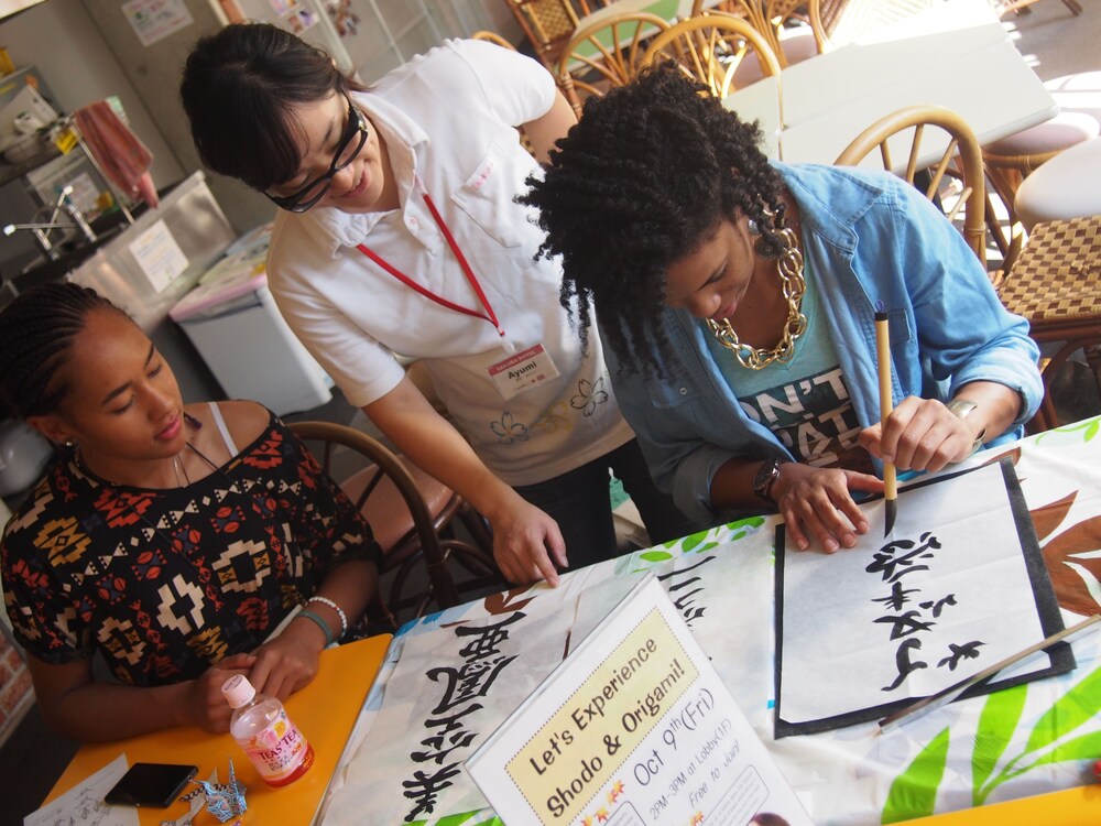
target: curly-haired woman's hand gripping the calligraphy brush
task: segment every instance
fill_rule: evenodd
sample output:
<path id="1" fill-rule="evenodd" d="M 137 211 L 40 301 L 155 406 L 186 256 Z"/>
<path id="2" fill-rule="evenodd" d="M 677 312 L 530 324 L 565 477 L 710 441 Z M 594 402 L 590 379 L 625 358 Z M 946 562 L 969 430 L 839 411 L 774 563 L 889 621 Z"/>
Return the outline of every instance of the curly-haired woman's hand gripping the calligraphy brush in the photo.
<path id="1" fill-rule="evenodd" d="M 893 460 L 900 470 L 935 472 L 970 456 L 974 437 L 944 402 L 912 395 L 891 412 L 885 426 L 873 424 L 858 441 L 872 456 Z"/>

